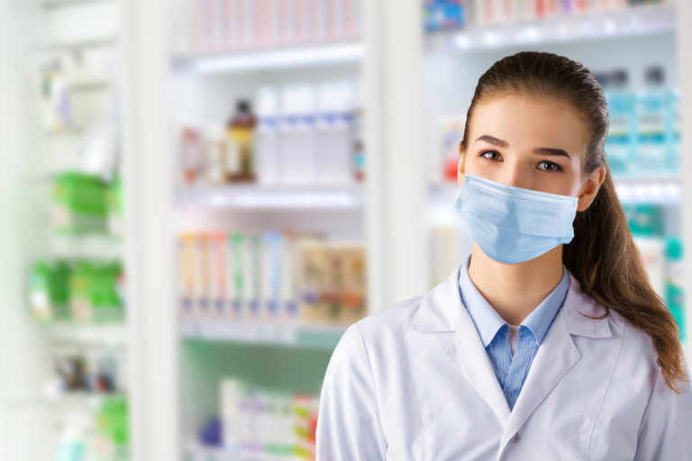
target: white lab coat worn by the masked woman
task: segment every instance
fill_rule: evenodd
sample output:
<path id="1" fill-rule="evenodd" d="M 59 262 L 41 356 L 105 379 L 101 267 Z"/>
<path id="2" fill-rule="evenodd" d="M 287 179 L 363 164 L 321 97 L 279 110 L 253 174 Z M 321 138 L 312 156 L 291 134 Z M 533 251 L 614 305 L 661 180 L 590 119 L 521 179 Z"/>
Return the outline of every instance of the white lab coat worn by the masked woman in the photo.
<path id="1" fill-rule="evenodd" d="M 510 411 L 458 267 L 346 330 L 324 376 L 318 461 L 692 460 L 692 393 L 665 384 L 651 338 L 571 274 Z"/>

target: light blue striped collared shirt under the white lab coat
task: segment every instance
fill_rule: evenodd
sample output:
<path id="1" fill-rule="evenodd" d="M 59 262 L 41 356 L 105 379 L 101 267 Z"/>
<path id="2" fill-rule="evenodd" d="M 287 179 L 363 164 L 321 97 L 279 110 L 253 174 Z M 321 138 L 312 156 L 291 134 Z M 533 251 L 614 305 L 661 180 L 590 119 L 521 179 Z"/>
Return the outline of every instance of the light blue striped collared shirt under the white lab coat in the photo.
<path id="1" fill-rule="evenodd" d="M 469 261 L 460 270 L 461 302 L 476 324 L 487 357 L 495 370 L 510 409 L 524 386 L 526 375 L 555 316 L 560 311 L 569 289 L 569 273 L 562 266 L 562 280 L 519 326 L 519 339 L 514 357 L 509 345 L 509 325 L 486 301 L 469 277 Z"/>

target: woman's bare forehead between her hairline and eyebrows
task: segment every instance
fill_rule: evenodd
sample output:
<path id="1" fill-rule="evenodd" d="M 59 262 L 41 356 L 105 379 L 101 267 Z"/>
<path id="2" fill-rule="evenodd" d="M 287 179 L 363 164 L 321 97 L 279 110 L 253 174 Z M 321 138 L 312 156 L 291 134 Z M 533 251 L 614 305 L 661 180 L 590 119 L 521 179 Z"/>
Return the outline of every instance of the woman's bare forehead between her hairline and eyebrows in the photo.
<path id="1" fill-rule="evenodd" d="M 552 96 L 494 95 L 473 109 L 469 146 L 479 136 L 505 140 L 510 148 L 559 148 L 583 154 L 587 122 L 568 101 Z"/>

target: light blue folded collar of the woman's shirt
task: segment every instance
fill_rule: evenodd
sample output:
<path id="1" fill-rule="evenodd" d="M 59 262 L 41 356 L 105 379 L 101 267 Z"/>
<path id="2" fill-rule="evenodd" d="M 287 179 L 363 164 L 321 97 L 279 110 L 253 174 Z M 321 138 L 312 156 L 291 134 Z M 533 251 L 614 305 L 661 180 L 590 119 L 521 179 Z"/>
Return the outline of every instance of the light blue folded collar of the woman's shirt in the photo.
<path id="1" fill-rule="evenodd" d="M 471 319 L 476 324 L 476 329 L 483 341 L 483 346 L 487 348 L 488 344 L 495 338 L 497 331 L 500 330 L 506 321 L 500 317 L 493 306 L 487 302 L 486 298 L 473 285 L 469 277 L 469 261 L 471 257 L 466 259 L 466 263 L 459 271 L 459 286 L 461 303 L 466 306 Z M 565 296 L 569 289 L 569 273 L 567 267 L 562 265 L 562 279 L 560 283 L 552 290 L 551 294 L 543 299 L 543 301 L 526 316 L 522 325 L 527 327 L 533 333 L 533 337 L 538 344 L 542 343 L 545 334 L 551 327 L 551 323 L 555 315 L 560 311 L 562 303 L 565 301 Z"/>

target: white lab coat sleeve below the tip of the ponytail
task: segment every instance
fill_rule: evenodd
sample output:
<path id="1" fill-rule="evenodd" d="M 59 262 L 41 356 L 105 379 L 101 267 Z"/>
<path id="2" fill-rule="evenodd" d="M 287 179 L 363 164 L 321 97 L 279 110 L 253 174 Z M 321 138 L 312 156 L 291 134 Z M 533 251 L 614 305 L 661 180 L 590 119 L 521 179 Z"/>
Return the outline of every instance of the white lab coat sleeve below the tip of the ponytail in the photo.
<path id="1" fill-rule="evenodd" d="M 679 386 L 683 393 L 673 392 L 659 369 L 640 425 L 635 461 L 692 459 L 692 392 L 689 383 Z"/>

